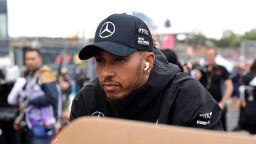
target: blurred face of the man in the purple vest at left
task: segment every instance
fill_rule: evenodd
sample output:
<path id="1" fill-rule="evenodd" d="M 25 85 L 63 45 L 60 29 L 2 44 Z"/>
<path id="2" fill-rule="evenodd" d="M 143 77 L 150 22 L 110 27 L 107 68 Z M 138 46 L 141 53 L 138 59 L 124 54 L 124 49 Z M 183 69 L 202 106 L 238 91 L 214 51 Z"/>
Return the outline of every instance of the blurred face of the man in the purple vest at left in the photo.
<path id="1" fill-rule="evenodd" d="M 42 64 L 42 58 L 36 51 L 28 51 L 25 54 L 25 63 L 28 70 L 36 70 Z"/>

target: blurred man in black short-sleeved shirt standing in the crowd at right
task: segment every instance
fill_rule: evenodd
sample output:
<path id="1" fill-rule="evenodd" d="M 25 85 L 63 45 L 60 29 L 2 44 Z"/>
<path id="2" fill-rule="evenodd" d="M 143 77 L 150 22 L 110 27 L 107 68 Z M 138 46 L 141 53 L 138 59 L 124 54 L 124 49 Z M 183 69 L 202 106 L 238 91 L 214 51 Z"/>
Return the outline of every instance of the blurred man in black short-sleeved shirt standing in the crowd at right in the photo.
<path id="1" fill-rule="evenodd" d="M 198 74 L 199 77 L 196 79 L 199 79 L 201 84 L 208 89 L 210 94 L 223 110 L 221 122 L 223 124 L 223 129 L 226 131 L 225 101 L 228 100 L 233 92 L 233 84 L 232 80 L 229 78 L 229 72 L 225 69 L 225 67 L 215 63 L 216 55 L 217 50 L 215 48 L 208 48 L 208 50 L 206 50 L 206 60 L 208 65 L 203 67 L 201 74 Z M 225 87 L 225 92 L 223 92 L 223 84 Z"/>

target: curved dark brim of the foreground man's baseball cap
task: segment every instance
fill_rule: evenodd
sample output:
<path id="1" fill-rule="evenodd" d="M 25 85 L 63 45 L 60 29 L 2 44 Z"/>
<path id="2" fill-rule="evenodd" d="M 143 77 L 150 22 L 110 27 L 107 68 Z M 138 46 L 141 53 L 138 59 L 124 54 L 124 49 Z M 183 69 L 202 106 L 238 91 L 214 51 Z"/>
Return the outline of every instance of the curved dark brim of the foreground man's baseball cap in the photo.
<path id="1" fill-rule="evenodd" d="M 97 48 L 110 52 L 112 55 L 117 55 L 119 57 L 127 57 L 128 55 L 131 55 L 133 52 L 137 51 L 137 49 L 130 48 L 127 45 L 122 45 L 111 41 L 102 41 L 85 46 L 82 48 L 82 50 L 80 50 L 78 57 L 80 60 L 87 60 L 95 55 L 95 50 L 97 50 Z"/>

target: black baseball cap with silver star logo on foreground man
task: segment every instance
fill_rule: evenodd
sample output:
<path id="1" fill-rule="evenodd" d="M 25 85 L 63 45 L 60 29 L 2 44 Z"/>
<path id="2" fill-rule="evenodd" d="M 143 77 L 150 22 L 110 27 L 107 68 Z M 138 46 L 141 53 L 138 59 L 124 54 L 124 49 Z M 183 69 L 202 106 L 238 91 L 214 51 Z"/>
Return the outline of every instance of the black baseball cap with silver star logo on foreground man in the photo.
<path id="1" fill-rule="evenodd" d="M 100 48 L 112 55 L 126 57 L 137 50 L 152 51 L 153 39 L 141 19 L 125 13 L 112 14 L 97 27 L 95 41 L 80 50 L 80 60 L 87 60 Z"/>

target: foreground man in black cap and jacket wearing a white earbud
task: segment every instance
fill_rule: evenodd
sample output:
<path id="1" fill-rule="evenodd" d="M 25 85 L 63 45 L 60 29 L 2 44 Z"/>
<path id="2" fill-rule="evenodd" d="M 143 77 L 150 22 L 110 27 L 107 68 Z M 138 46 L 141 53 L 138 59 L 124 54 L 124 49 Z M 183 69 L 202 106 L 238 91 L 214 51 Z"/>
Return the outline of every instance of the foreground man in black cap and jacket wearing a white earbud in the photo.
<path id="1" fill-rule="evenodd" d="M 93 56 L 97 79 L 75 96 L 70 121 L 107 116 L 222 129 L 218 104 L 154 47 L 149 28 L 139 18 L 123 13 L 103 20 L 95 43 L 79 53 L 81 60 Z"/>

